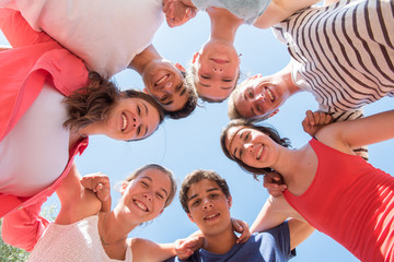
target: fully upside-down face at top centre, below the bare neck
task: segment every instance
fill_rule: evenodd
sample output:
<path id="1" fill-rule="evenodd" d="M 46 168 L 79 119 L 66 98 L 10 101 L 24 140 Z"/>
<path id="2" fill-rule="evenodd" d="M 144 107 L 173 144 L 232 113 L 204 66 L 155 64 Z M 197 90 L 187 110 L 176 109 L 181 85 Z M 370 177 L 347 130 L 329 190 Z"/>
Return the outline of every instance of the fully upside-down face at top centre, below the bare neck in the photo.
<path id="1" fill-rule="evenodd" d="M 210 40 L 195 55 L 193 67 L 198 95 L 219 102 L 228 98 L 236 85 L 240 58 L 232 45 Z"/>

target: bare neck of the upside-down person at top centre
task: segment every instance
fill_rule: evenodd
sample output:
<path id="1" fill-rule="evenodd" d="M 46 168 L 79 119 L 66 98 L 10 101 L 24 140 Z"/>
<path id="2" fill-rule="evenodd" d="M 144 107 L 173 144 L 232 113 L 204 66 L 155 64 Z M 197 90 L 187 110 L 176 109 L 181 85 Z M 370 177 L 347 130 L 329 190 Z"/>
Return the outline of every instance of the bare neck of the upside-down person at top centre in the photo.
<path id="1" fill-rule="evenodd" d="M 236 17 L 225 9 L 209 8 L 207 13 L 211 21 L 211 39 L 234 43 L 235 34 L 243 20 Z"/>

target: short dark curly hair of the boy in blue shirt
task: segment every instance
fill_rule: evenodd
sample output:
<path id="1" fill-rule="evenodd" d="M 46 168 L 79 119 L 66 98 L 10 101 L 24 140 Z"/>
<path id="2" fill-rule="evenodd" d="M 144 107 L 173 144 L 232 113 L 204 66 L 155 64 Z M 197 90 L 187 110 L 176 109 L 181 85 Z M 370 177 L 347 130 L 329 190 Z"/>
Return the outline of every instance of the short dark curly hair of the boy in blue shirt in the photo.
<path id="1" fill-rule="evenodd" d="M 194 183 L 197 183 L 204 179 L 216 182 L 227 198 L 231 196 L 229 184 L 227 183 L 224 178 L 219 176 L 219 174 L 217 174 L 213 170 L 201 170 L 201 169 L 194 170 L 185 177 L 185 179 L 182 182 L 181 190 L 179 190 L 179 201 L 181 201 L 182 207 L 184 209 L 184 211 L 186 213 L 190 213 L 190 211 L 187 206 L 187 203 L 188 203 L 187 193 L 188 193 L 190 187 Z"/>

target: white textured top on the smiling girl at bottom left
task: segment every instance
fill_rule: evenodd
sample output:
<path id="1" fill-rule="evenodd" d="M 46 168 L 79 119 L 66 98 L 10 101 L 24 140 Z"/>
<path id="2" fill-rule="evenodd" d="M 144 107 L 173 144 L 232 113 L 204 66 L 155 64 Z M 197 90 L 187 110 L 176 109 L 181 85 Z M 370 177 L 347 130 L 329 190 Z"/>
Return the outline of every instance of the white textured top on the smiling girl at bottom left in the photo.
<path id="1" fill-rule="evenodd" d="M 109 259 L 99 235 L 99 215 L 86 217 L 70 225 L 51 223 L 30 254 L 30 262 L 106 262 Z M 125 260 L 132 261 L 131 247 Z"/>

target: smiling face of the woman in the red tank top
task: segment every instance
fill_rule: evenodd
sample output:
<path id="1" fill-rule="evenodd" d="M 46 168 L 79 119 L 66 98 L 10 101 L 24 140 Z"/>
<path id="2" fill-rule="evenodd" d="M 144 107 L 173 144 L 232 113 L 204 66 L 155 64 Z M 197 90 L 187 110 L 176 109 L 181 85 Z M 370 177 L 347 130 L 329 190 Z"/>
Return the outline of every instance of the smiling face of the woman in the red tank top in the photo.
<path id="1" fill-rule="evenodd" d="M 273 165 L 277 156 L 276 145 L 265 133 L 244 127 L 232 127 L 225 135 L 225 147 L 230 154 L 255 168 Z"/>

